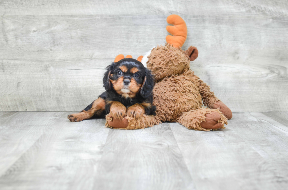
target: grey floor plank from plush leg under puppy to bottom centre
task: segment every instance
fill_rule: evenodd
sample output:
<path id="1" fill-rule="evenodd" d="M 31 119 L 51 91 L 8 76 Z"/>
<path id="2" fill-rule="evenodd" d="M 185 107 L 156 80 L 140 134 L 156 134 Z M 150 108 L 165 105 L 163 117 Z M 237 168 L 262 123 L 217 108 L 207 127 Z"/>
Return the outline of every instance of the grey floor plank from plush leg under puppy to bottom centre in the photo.
<path id="1" fill-rule="evenodd" d="M 93 189 L 195 189 L 169 124 L 110 130 Z"/>

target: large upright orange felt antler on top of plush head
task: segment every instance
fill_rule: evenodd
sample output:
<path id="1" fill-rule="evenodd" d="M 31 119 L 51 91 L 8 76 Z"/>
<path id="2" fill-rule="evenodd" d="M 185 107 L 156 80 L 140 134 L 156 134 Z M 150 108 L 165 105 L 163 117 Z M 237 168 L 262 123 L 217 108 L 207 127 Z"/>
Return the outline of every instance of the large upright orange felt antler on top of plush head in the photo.
<path id="1" fill-rule="evenodd" d="M 167 23 L 174 26 L 167 26 L 166 30 L 172 34 L 166 36 L 166 42 L 173 47 L 182 47 L 187 38 L 187 26 L 185 21 L 178 15 L 170 15 L 167 17 Z"/>

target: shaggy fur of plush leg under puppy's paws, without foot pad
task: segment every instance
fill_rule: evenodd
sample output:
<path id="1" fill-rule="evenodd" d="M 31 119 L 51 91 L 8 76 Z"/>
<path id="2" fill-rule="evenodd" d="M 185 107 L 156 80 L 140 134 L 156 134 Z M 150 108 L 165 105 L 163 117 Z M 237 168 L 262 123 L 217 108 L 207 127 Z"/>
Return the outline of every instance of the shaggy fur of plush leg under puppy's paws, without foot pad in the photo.
<path id="1" fill-rule="evenodd" d="M 105 127 L 109 127 L 112 129 L 145 129 L 147 127 L 153 127 L 154 125 L 158 125 L 159 123 L 161 123 L 160 119 L 157 119 L 152 115 L 143 114 L 142 117 L 140 117 L 139 119 L 134 119 L 132 117 L 126 116 L 126 119 L 129 122 L 126 128 L 113 128 L 108 124 L 108 121 L 112 119 L 113 117 L 111 117 L 110 114 L 106 115 Z"/>

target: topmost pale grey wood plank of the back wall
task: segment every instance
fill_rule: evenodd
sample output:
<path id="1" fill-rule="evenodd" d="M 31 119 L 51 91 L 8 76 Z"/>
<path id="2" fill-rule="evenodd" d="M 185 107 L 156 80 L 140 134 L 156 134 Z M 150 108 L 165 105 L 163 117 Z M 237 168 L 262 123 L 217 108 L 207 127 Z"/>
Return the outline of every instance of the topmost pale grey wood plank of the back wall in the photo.
<path id="1" fill-rule="evenodd" d="M 3 15 L 233 15 L 238 13 L 265 13 L 273 16 L 287 16 L 287 1 L 282 0 L 160 0 L 160 1 L 93 1 L 93 0 L 2 0 Z"/>

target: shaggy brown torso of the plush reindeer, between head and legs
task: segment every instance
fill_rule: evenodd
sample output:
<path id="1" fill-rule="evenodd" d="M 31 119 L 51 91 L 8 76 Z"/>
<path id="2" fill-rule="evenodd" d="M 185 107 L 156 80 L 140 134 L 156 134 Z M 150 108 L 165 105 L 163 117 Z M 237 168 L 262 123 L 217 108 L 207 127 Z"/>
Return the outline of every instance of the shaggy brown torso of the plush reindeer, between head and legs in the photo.
<path id="1" fill-rule="evenodd" d="M 153 89 L 153 105 L 161 121 L 178 121 L 184 112 L 202 107 L 197 86 L 198 77 L 191 70 L 172 75 L 156 83 Z"/>

